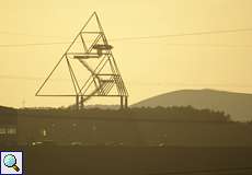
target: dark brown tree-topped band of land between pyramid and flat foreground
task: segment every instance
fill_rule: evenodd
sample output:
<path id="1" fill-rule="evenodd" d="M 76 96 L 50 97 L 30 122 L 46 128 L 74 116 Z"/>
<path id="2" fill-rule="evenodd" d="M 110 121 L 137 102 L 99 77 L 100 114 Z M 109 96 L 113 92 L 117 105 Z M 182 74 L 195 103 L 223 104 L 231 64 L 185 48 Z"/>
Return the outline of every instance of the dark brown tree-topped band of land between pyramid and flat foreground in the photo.
<path id="1" fill-rule="evenodd" d="M 19 144 L 248 147 L 251 124 L 192 107 L 127 110 L 20 109 L 0 115 L 0 140 Z"/>

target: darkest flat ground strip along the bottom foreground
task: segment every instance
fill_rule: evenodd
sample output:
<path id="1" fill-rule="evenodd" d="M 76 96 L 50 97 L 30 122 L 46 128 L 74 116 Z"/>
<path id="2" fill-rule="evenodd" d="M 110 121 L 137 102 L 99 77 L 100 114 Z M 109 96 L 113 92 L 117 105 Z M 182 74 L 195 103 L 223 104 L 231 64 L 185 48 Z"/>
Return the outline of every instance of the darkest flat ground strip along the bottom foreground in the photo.
<path id="1" fill-rule="evenodd" d="M 1 150 L 22 150 L 26 175 L 148 175 L 252 167 L 252 148 L 26 147 Z M 252 170 L 196 174 L 251 175 Z"/>

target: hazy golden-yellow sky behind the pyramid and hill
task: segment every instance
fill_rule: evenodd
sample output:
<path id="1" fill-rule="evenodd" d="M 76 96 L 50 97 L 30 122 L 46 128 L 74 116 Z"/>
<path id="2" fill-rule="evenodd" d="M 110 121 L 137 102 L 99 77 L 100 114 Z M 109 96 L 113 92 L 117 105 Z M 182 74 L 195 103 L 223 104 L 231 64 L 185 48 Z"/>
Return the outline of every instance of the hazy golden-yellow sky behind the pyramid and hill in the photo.
<path id="1" fill-rule="evenodd" d="M 61 106 L 35 97 L 66 45 L 96 11 L 108 38 L 252 27 L 251 0 L 8 0 L 0 2 L 0 105 Z M 252 32 L 112 40 L 129 103 L 181 89 L 252 93 Z M 66 85 L 70 82 L 66 81 Z M 116 103 L 94 98 L 91 103 Z"/>

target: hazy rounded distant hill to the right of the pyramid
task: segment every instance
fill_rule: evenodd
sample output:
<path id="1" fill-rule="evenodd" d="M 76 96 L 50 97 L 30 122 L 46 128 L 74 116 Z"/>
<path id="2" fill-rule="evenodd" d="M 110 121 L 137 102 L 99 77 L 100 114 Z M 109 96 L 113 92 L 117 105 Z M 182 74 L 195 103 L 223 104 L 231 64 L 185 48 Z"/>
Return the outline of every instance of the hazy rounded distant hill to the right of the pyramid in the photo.
<path id="1" fill-rule="evenodd" d="M 233 120 L 252 120 L 252 94 L 216 90 L 181 90 L 144 100 L 131 107 L 193 106 L 230 114 Z"/>

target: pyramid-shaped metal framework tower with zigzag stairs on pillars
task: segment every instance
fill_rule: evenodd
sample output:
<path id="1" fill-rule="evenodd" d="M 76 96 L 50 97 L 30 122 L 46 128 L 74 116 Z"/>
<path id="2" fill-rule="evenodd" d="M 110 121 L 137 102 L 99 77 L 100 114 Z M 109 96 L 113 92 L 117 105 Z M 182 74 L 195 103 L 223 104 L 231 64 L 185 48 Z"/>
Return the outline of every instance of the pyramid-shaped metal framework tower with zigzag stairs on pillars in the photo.
<path id="1" fill-rule="evenodd" d="M 89 31 L 90 23 L 95 24 L 96 28 Z M 77 48 L 76 46 L 79 47 Z M 128 92 L 121 77 L 112 49 L 113 46 L 108 44 L 98 14 L 94 12 L 41 85 L 36 92 L 36 96 L 75 96 L 78 109 L 82 108 L 83 104 L 93 96 L 117 96 L 121 97 L 121 107 L 126 108 Z M 94 59 L 96 60 L 96 65 L 92 67 L 89 61 Z M 43 88 L 64 61 L 67 62 L 75 93 L 43 94 Z M 82 84 L 76 77 L 71 65 L 72 61 L 82 65 L 83 69 L 90 73 L 89 79 Z M 108 69 L 105 70 L 105 67 Z M 114 91 L 112 91 L 113 89 Z"/>

